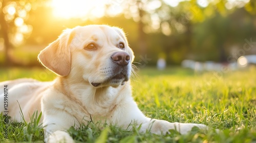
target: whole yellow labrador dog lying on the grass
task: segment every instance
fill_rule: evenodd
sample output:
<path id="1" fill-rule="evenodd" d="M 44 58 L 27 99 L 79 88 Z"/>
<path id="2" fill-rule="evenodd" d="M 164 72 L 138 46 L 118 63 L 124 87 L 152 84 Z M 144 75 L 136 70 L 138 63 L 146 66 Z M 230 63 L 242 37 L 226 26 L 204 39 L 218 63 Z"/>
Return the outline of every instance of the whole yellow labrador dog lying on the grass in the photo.
<path id="1" fill-rule="evenodd" d="M 129 80 L 133 51 L 119 28 L 90 25 L 65 30 L 38 59 L 58 75 L 53 82 L 19 79 L 2 82 L 0 87 L 8 85 L 11 120 L 20 122 L 19 105 L 27 121 L 34 110 L 42 111 L 46 142 L 74 142 L 66 130 L 91 120 L 123 129 L 135 123 L 141 132 L 155 134 L 170 129 L 185 134 L 194 126 L 208 129 L 148 118 L 140 111 Z M 0 95 L 3 101 L 3 91 Z"/>

